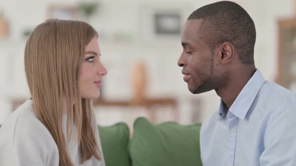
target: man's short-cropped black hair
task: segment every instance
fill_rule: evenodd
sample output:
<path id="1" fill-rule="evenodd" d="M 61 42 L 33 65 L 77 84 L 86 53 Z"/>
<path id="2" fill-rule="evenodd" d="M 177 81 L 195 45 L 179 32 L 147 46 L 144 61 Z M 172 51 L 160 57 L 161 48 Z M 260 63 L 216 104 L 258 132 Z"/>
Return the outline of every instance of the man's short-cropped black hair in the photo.
<path id="1" fill-rule="evenodd" d="M 240 5 L 231 1 L 211 3 L 191 13 L 190 19 L 203 19 L 198 37 L 211 49 L 227 41 L 234 45 L 243 64 L 254 63 L 255 25 Z"/>

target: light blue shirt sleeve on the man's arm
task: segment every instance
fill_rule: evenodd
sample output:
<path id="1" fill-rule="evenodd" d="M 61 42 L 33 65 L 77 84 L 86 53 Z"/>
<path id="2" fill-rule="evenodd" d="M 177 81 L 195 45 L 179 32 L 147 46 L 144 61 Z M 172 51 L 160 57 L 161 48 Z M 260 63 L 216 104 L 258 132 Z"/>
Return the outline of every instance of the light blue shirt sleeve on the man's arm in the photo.
<path id="1" fill-rule="evenodd" d="M 264 134 L 261 166 L 292 166 L 296 161 L 296 109 L 287 105 L 270 115 Z"/>

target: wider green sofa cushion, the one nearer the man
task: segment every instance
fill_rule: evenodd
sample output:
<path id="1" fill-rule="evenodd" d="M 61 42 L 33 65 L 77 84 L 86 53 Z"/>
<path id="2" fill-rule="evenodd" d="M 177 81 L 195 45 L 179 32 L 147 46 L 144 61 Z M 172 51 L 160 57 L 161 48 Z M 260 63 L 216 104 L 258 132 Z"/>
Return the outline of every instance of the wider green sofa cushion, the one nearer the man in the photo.
<path id="1" fill-rule="evenodd" d="M 199 145 L 201 124 L 152 124 L 140 117 L 133 125 L 133 137 L 128 145 L 133 166 L 202 165 Z"/>

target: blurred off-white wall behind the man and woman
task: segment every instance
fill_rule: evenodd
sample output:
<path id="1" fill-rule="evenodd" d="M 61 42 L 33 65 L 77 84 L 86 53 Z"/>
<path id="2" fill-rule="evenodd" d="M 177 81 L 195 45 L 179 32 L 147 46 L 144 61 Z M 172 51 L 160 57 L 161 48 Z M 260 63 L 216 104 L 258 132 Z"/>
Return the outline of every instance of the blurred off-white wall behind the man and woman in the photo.
<path id="1" fill-rule="evenodd" d="M 10 113 L 10 100 L 28 97 L 23 65 L 26 38 L 22 31 L 33 28 L 47 17 L 49 4 L 61 0 L 1 0 L 10 20 L 11 36 L 0 40 L 0 123 Z M 154 8 L 180 7 L 184 15 L 215 0 L 101 0 L 100 10 L 90 19 L 99 31 L 102 60 L 108 69 L 104 78 L 103 94 L 107 98 L 131 97 L 130 68 L 138 59 L 144 59 L 149 71 L 149 96 L 176 96 L 182 110 L 181 122 L 191 122 L 190 106 L 193 99 L 201 99 L 200 120 L 205 119 L 217 106 L 219 97 L 214 91 L 193 95 L 182 79 L 177 60 L 182 51 L 180 37 L 157 38 L 149 33 L 145 24 L 147 15 Z M 74 5 L 77 0 L 63 0 L 62 4 Z M 279 18 L 293 15 L 292 0 L 236 0 L 253 18 L 257 29 L 255 62 L 267 80 L 274 80 L 277 70 L 277 24 Z M 143 12 L 145 11 L 145 12 Z M 143 19 L 145 18 L 145 19 Z M 148 20 L 149 22 L 149 20 Z M 144 26 L 144 27 L 143 27 Z M 129 34 L 129 40 L 110 39 L 116 33 Z M 150 34 L 150 33 L 149 33 Z M 215 104 L 213 104 L 215 103 Z M 118 113 L 117 113 L 118 114 Z M 118 115 L 120 116 L 120 114 Z M 105 122 L 107 123 L 107 122 Z"/>

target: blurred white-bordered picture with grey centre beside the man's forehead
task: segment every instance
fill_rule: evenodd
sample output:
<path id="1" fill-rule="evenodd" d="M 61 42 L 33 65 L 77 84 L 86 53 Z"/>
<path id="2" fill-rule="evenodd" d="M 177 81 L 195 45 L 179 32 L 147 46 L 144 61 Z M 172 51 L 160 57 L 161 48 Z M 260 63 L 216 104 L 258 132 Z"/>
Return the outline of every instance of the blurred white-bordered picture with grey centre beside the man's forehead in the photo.
<path id="1" fill-rule="evenodd" d="M 139 37 L 145 41 L 178 40 L 188 15 L 189 4 L 173 2 L 141 3 L 139 10 Z"/>

